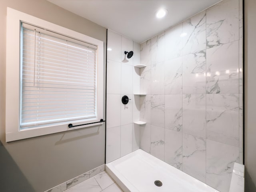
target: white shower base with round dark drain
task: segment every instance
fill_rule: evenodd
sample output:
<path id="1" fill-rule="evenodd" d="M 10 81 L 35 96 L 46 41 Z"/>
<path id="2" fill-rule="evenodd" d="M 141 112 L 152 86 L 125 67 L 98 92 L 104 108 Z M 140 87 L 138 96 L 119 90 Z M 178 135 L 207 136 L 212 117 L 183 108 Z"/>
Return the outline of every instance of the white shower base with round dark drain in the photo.
<path id="1" fill-rule="evenodd" d="M 106 171 L 124 192 L 219 192 L 141 149 L 106 164 Z"/>

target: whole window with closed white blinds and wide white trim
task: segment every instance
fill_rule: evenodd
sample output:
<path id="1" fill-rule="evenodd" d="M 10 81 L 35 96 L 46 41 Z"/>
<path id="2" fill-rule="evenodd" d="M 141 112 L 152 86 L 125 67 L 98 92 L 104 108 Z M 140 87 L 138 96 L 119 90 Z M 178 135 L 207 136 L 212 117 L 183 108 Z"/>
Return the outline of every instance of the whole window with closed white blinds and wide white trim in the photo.
<path id="1" fill-rule="evenodd" d="M 103 118 L 102 41 L 10 8 L 6 33 L 7 142 Z"/>

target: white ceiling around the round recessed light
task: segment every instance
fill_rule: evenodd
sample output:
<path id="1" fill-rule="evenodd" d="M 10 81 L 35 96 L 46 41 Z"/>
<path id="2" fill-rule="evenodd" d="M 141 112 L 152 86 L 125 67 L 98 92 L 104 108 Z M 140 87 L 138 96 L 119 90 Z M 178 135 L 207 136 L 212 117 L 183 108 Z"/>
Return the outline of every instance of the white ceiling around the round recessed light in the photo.
<path id="1" fill-rule="evenodd" d="M 220 0 L 48 0 L 142 43 Z M 168 10 L 157 19 L 159 8 Z"/>

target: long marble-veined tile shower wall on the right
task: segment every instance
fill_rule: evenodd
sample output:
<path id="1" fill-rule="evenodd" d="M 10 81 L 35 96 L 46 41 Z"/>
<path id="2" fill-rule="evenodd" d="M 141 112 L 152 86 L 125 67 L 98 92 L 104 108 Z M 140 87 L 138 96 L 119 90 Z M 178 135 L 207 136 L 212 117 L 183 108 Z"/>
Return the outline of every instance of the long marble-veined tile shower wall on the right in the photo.
<path id="1" fill-rule="evenodd" d="M 242 163 L 242 0 L 141 44 L 140 148 L 227 192 Z"/>

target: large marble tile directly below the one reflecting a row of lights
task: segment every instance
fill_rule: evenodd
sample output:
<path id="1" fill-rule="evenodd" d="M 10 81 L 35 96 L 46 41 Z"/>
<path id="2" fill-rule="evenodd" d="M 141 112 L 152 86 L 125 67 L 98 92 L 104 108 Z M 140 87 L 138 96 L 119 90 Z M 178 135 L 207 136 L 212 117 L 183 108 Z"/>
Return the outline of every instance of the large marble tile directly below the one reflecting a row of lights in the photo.
<path id="1" fill-rule="evenodd" d="M 206 137 L 239 146 L 239 95 L 206 95 Z"/>

